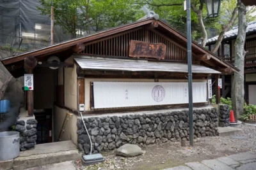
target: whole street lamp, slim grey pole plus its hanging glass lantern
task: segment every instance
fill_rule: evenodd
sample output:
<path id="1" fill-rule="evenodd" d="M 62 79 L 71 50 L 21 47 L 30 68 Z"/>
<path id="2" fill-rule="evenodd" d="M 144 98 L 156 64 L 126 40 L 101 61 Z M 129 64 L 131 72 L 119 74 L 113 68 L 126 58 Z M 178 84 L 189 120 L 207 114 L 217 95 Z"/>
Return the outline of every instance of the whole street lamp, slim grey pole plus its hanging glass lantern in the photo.
<path id="1" fill-rule="evenodd" d="M 200 0 L 203 1 L 203 0 Z M 220 11 L 220 0 L 205 0 L 208 15 L 217 17 Z M 191 39 L 191 3 L 185 0 L 187 10 L 187 43 L 188 43 L 188 103 L 189 103 L 189 144 L 194 145 L 193 132 L 193 93 L 192 93 L 192 39 Z M 208 10 L 210 7 L 211 10 Z M 216 9 L 217 8 L 217 9 Z M 211 12 L 211 13 L 210 13 Z"/>

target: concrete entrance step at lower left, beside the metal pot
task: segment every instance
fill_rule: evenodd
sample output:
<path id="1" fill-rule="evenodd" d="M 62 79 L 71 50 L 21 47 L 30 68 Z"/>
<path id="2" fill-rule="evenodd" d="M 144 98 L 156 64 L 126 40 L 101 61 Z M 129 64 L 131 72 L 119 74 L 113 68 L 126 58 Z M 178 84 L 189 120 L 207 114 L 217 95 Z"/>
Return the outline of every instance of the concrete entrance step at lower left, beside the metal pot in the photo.
<path id="1" fill-rule="evenodd" d="M 20 152 L 20 156 L 15 159 L 0 161 L 0 169 L 23 170 L 68 160 L 77 160 L 81 159 L 81 156 L 77 146 L 72 141 L 45 143 L 36 145 L 34 150 Z"/>

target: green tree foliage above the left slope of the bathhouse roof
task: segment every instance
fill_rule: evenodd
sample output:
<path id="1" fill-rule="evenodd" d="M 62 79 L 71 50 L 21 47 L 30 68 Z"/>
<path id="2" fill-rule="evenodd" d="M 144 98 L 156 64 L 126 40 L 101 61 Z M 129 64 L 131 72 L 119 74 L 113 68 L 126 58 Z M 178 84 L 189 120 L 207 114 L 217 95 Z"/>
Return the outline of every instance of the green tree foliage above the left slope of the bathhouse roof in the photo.
<path id="1" fill-rule="evenodd" d="M 54 6 L 54 23 L 63 26 L 72 38 L 76 38 L 78 29 L 100 31 L 145 15 L 134 0 L 40 0 L 40 3 L 42 7 L 38 10 L 49 17 Z"/>

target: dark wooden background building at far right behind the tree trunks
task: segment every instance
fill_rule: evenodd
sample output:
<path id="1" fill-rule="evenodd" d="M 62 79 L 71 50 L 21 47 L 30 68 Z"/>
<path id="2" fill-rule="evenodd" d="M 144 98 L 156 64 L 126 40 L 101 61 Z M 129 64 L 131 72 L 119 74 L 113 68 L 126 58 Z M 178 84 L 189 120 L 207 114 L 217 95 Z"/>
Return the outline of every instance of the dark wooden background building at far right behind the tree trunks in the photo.
<path id="1" fill-rule="evenodd" d="M 237 38 L 237 27 L 225 33 L 221 46 L 216 54 L 221 59 L 234 64 L 235 43 Z M 207 40 L 207 46 L 211 50 L 216 43 L 218 36 Z M 256 22 L 248 23 L 246 29 L 246 42 L 244 45 L 246 56 L 244 59 L 244 99 L 249 104 L 256 104 Z M 232 75 L 221 75 L 223 88 L 221 89 L 222 97 L 231 97 L 231 80 Z M 214 94 L 216 92 L 213 92 Z"/>

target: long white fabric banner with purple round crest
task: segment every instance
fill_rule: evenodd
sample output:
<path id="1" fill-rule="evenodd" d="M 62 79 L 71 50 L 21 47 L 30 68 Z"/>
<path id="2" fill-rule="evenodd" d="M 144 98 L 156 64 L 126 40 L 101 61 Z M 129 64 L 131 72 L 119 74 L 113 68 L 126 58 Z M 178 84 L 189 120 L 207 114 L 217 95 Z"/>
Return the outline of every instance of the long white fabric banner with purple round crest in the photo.
<path id="1" fill-rule="evenodd" d="M 188 83 L 93 82 L 94 108 L 188 103 Z M 193 103 L 207 102 L 205 82 L 193 82 Z"/>

